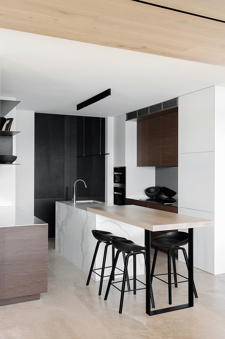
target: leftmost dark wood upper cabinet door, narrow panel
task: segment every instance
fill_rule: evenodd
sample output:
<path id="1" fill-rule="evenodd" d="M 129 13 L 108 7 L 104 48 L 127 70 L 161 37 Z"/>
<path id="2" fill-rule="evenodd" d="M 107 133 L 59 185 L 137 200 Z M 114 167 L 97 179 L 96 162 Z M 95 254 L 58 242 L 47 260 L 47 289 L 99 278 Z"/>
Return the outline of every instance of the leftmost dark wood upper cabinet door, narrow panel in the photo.
<path id="1" fill-rule="evenodd" d="M 148 124 L 145 120 L 137 122 L 137 166 L 148 166 Z"/>

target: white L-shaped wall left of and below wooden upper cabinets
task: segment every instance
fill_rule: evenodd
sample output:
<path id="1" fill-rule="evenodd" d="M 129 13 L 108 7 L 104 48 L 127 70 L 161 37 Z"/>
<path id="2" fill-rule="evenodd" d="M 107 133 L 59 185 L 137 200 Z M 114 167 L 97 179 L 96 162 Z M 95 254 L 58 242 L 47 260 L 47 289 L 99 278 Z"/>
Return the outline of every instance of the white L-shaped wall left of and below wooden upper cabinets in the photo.
<path id="1" fill-rule="evenodd" d="M 137 122 L 126 121 L 125 145 L 126 197 L 146 197 L 145 188 L 155 186 L 155 167 L 137 167 Z"/>

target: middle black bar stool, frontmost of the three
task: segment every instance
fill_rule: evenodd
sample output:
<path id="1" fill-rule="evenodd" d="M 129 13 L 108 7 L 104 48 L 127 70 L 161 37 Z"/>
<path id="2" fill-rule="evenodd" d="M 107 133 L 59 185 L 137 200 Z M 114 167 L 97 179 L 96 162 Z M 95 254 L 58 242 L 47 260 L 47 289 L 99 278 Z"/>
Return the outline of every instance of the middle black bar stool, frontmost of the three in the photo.
<path id="1" fill-rule="evenodd" d="M 119 313 L 121 314 L 122 313 L 122 308 L 123 308 L 124 293 L 128 292 L 128 291 L 134 291 L 134 294 L 136 294 L 136 291 L 138 291 L 138 290 L 145 290 L 145 287 L 143 287 L 143 288 L 136 288 L 136 281 L 139 281 L 143 285 L 146 285 L 142 281 L 138 280 L 137 277 L 136 277 L 136 256 L 138 254 L 143 254 L 144 255 L 144 259 L 145 259 L 145 265 L 146 265 L 146 253 L 144 252 L 145 247 L 137 245 L 136 243 L 132 242 L 131 240 L 111 238 L 111 243 L 112 243 L 112 246 L 114 246 L 117 249 L 117 253 L 116 253 L 116 257 L 115 257 L 114 263 L 112 265 L 112 271 L 111 271 L 110 278 L 109 278 L 109 281 L 108 281 L 108 286 L 107 286 L 107 289 L 106 289 L 104 300 L 107 300 L 107 298 L 108 298 L 110 286 L 112 285 L 112 286 L 116 287 L 114 284 L 116 284 L 118 282 L 122 282 L 121 290 L 118 287 L 116 287 L 117 290 L 119 290 L 121 292 L 120 308 L 119 308 Z M 116 268 L 117 260 L 118 260 L 119 254 L 121 252 L 123 253 L 123 255 L 126 253 L 124 272 L 123 272 L 123 280 L 112 282 L 112 278 L 114 276 L 114 271 L 115 271 L 115 268 Z M 130 256 L 134 257 L 134 260 L 133 260 L 134 278 L 132 278 L 132 279 L 129 279 L 128 273 L 127 273 L 128 260 L 129 260 Z M 128 289 L 127 291 L 125 291 L 125 283 L 126 283 L 127 280 L 128 281 L 129 280 L 134 280 L 134 289 L 133 290 L 129 290 Z M 150 284 L 150 296 L 151 296 L 152 307 L 155 308 L 155 303 L 154 303 L 154 297 L 153 297 L 153 292 L 152 292 L 151 284 Z"/>

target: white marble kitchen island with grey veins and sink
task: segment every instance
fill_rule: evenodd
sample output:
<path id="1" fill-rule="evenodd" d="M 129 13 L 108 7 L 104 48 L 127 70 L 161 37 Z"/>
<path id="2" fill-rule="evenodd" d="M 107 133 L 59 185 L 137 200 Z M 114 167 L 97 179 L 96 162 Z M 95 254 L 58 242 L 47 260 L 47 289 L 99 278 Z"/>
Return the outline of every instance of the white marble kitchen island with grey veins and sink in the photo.
<path id="1" fill-rule="evenodd" d="M 86 274 L 89 273 L 97 243 L 97 240 L 93 237 L 91 230 L 108 231 L 144 246 L 144 229 L 91 213 L 87 211 L 87 207 L 90 206 L 106 207 L 113 205 L 107 203 L 85 204 L 78 202 L 74 206 L 73 201 L 56 202 L 56 251 L 79 267 Z M 100 244 L 94 269 L 102 266 L 103 252 L 104 244 Z M 106 266 L 110 266 L 111 263 L 111 251 L 109 250 Z M 117 266 L 123 269 L 124 263 L 122 256 L 119 258 Z M 130 260 L 128 265 L 128 272 L 130 276 L 132 276 L 132 271 L 133 264 L 132 260 Z M 106 275 L 109 273 L 110 269 L 106 268 Z M 137 275 L 140 274 L 144 274 L 143 256 L 138 256 L 137 258 Z M 100 277 L 94 273 L 91 278 L 95 281 L 100 280 Z"/>

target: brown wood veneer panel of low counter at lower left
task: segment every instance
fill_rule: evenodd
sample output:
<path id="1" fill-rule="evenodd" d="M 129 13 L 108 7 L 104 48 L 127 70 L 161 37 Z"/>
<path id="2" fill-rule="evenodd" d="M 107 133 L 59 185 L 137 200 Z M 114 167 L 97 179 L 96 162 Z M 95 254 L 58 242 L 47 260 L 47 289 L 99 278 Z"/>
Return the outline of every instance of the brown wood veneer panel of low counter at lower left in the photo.
<path id="1" fill-rule="evenodd" d="M 0 228 L 0 300 L 47 292 L 47 264 L 46 224 Z"/>

